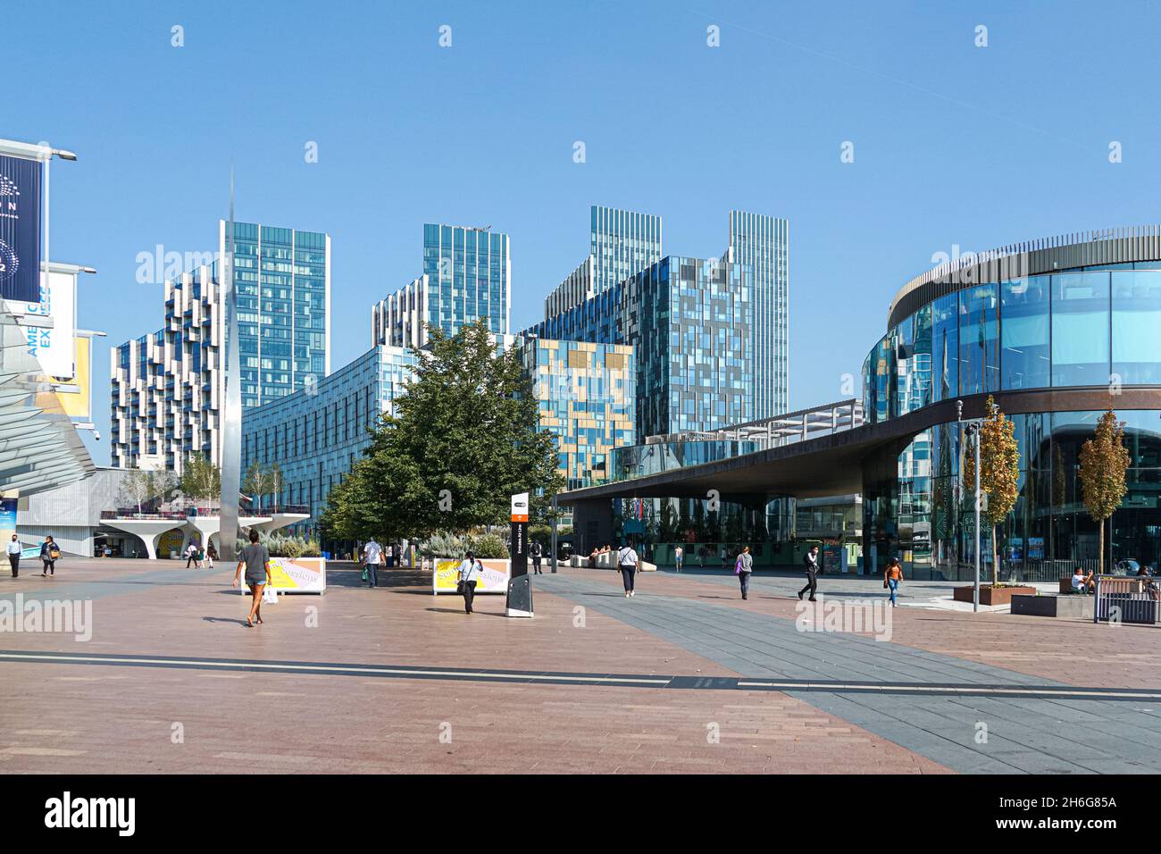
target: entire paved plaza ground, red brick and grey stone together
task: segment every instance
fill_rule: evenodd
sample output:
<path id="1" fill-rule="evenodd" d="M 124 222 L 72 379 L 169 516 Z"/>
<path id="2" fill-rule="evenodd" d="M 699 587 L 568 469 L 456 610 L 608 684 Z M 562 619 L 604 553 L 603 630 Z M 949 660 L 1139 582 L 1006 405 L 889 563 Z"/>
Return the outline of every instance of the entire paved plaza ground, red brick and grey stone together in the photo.
<path id="1" fill-rule="evenodd" d="M 534 576 L 536 616 L 431 575 L 284 596 L 245 627 L 232 568 L 26 566 L 0 598 L 92 602 L 92 637 L 0 632 L 0 772 L 1155 773 L 1161 634 L 952 611 L 904 584 L 890 639 L 800 631 L 793 575 Z M 881 583 L 822 576 L 823 601 Z M 829 598 L 828 598 L 829 597 Z M 821 627 L 821 626 L 820 626 Z M 881 636 L 881 632 L 879 633 Z"/>

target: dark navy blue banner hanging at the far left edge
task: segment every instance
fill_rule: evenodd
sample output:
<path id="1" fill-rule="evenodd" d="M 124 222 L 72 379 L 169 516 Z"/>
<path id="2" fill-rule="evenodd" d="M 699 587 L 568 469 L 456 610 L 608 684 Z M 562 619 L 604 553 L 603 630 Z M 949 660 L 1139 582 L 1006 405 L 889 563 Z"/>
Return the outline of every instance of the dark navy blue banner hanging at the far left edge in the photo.
<path id="1" fill-rule="evenodd" d="M 0 157 L 0 296 L 41 301 L 41 175 L 38 160 Z"/>

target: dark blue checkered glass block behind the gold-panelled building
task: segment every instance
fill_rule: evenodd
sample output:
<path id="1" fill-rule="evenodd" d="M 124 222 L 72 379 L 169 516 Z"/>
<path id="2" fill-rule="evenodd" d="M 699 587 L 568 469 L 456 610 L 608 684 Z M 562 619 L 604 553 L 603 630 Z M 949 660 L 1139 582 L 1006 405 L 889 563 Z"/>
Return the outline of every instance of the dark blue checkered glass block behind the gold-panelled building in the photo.
<path id="1" fill-rule="evenodd" d="M 751 274 L 670 256 L 533 328 L 540 338 L 623 344 L 636 358 L 636 436 L 753 417 Z"/>

